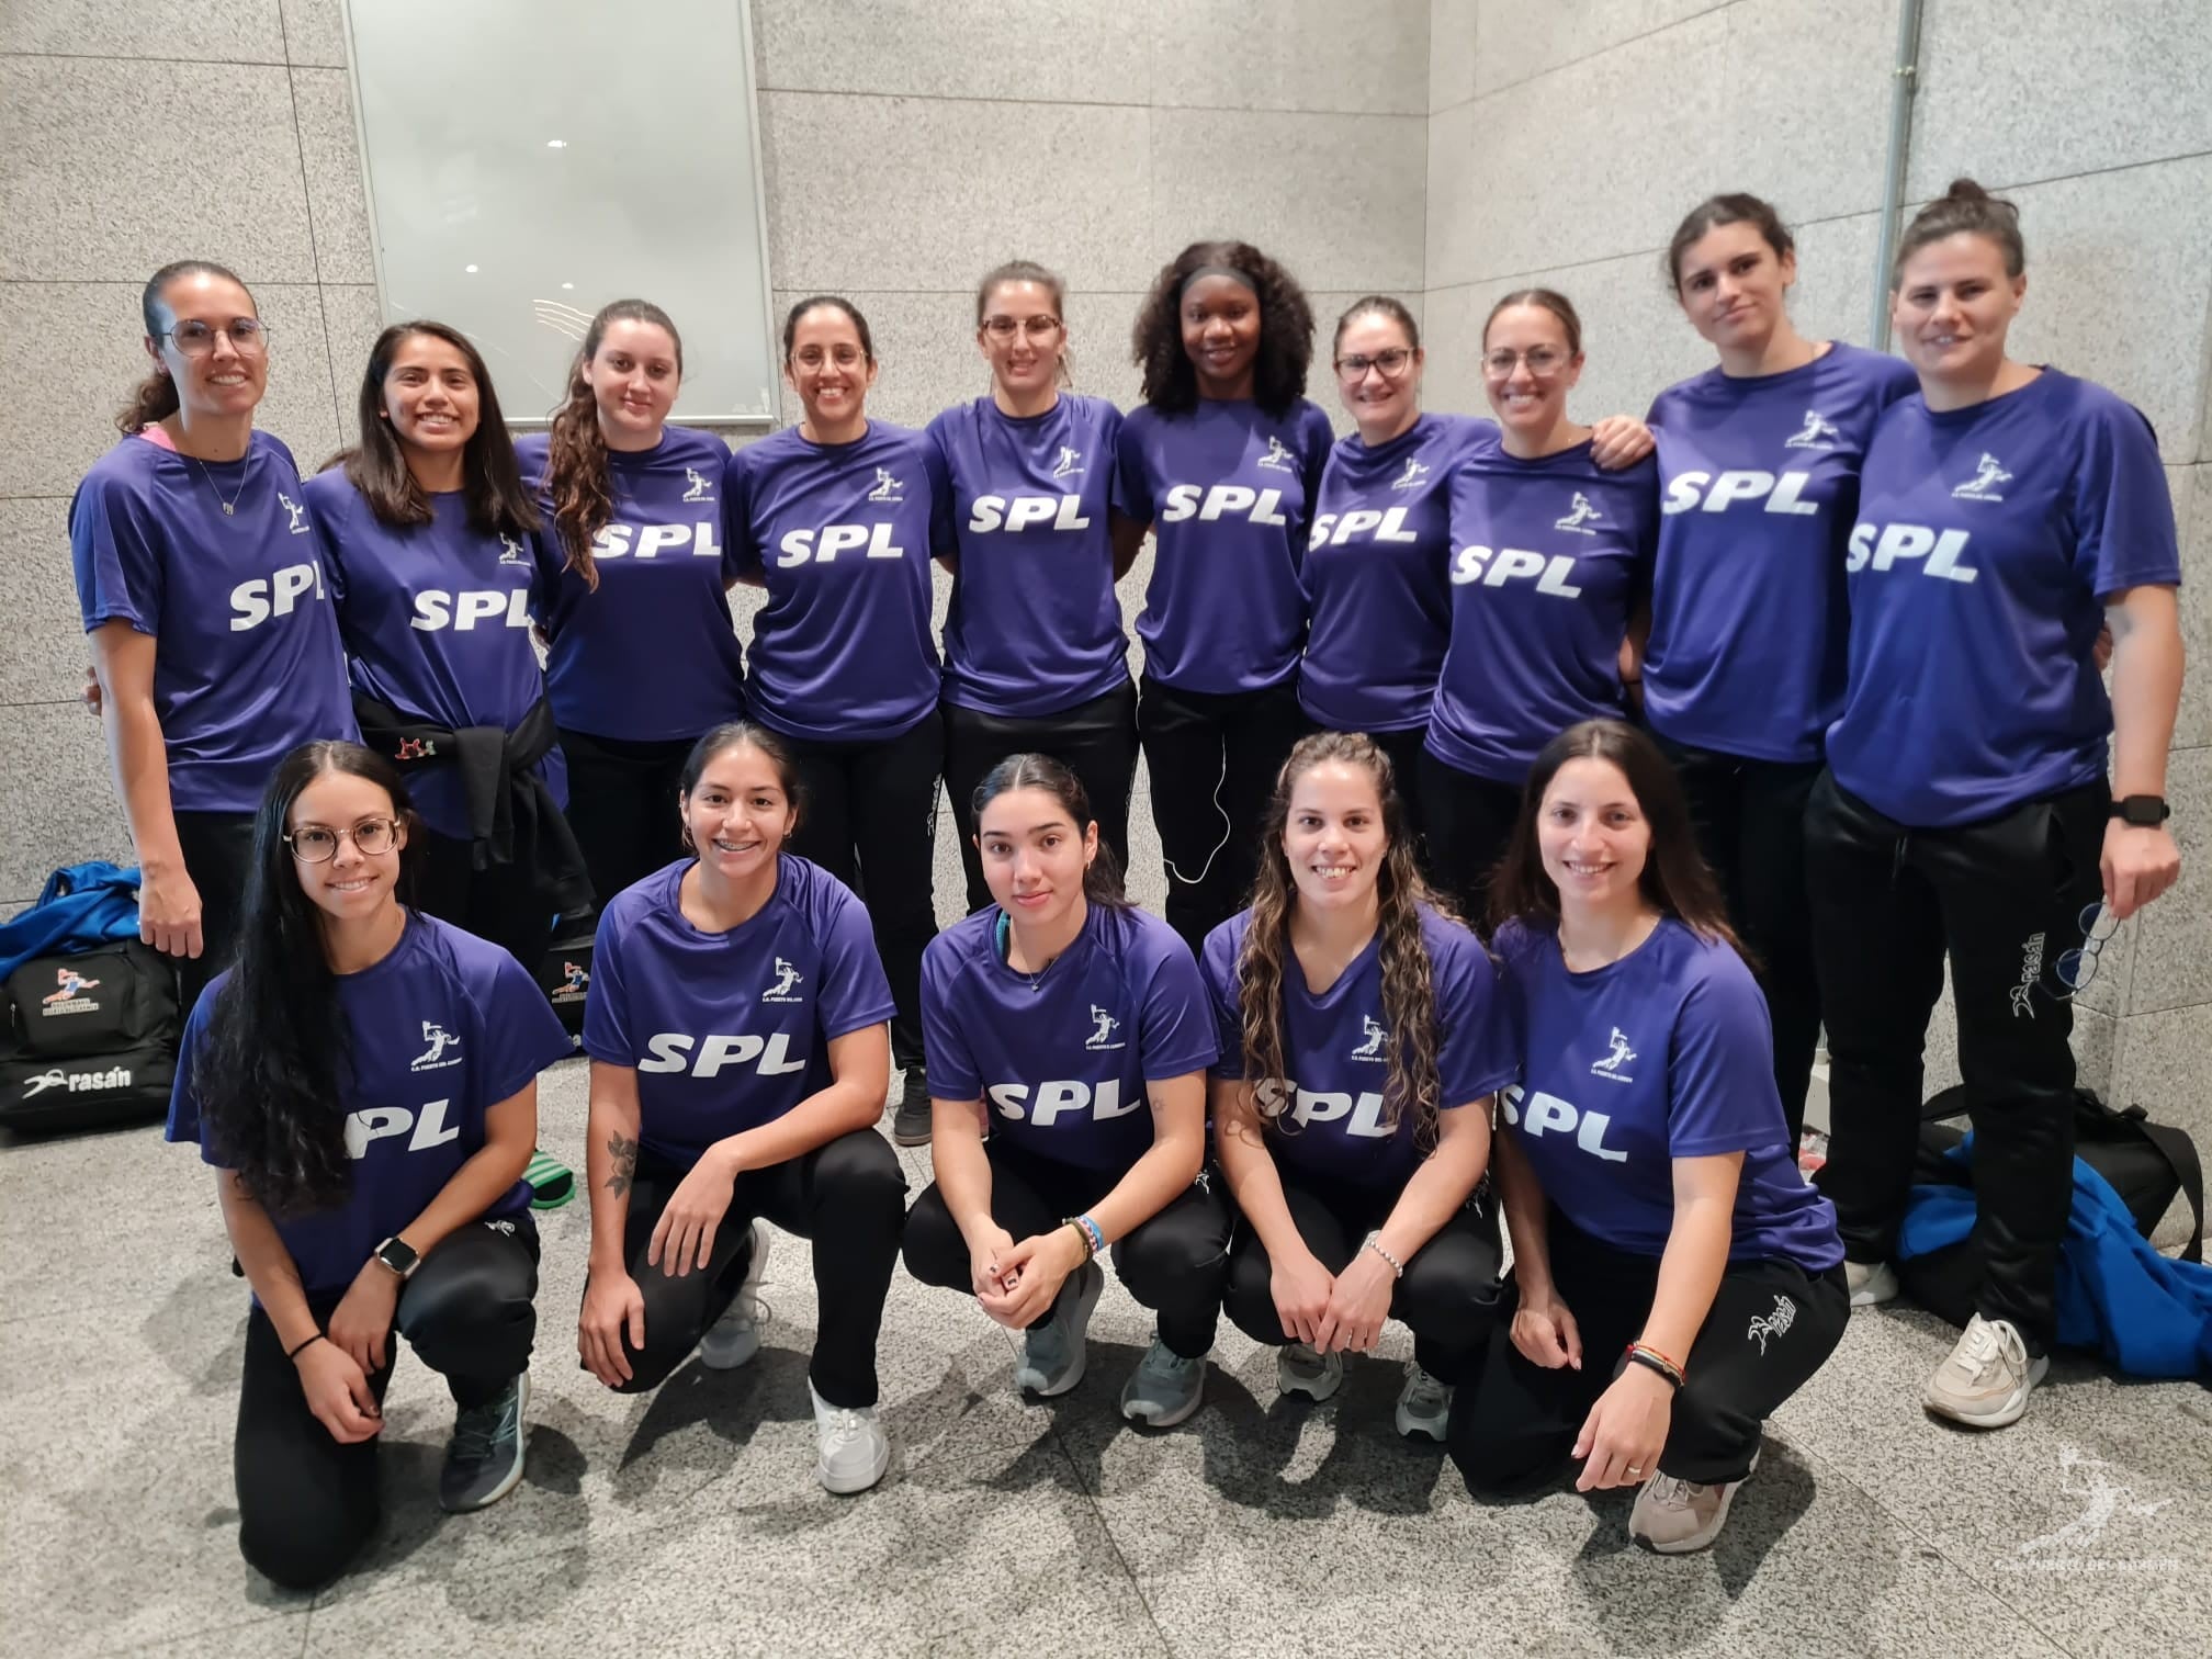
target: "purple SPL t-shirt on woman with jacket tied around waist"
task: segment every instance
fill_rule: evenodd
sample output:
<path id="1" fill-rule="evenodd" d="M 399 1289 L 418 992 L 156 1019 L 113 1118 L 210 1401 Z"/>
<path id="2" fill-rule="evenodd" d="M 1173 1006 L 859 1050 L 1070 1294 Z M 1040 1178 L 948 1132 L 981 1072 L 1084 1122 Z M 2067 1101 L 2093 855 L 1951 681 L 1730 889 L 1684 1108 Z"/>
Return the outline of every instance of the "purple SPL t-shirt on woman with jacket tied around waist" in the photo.
<path id="1" fill-rule="evenodd" d="M 305 491 L 354 688 L 453 730 L 515 730 L 546 690 L 531 646 L 531 595 L 557 562 L 540 538 L 473 529 L 462 491 L 431 495 L 429 524 L 385 524 L 341 467 L 310 478 Z M 557 745 L 535 772 L 566 805 L 568 763 Z M 440 836 L 469 836 L 458 768 L 411 765 L 407 792 Z"/>

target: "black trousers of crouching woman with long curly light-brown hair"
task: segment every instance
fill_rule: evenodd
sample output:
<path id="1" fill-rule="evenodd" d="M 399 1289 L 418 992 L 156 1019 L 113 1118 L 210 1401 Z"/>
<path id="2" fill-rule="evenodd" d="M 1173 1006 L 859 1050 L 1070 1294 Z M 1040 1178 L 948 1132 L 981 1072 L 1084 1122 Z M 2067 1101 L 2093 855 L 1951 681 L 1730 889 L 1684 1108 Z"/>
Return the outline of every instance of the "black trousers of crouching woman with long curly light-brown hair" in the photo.
<path id="1" fill-rule="evenodd" d="M 1290 1219 L 1323 1267 L 1340 1274 L 1398 1203 L 1398 1192 L 1323 1183 L 1276 1166 Z M 1440 1383 L 1464 1383 L 1491 1334 L 1498 1312 L 1498 1214 L 1486 1194 L 1471 1199 L 1405 1263 L 1391 1292 L 1391 1318 L 1413 1332 L 1413 1360 Z M 1274 1263 L 1267 1245 L 1241 1214 L 1230 1243 L 1230 1281 L 1223 1312 L 1254 1343 L 1292 1340 L 1274 1310 Z"/>

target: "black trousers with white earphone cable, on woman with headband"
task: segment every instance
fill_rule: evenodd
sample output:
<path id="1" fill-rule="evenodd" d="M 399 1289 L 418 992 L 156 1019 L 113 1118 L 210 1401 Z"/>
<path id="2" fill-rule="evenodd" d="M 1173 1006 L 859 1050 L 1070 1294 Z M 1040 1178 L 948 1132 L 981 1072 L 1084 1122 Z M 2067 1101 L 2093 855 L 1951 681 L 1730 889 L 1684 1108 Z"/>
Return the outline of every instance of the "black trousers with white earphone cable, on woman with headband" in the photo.
<path id="1" fill-rule="evenodd" d="M 1168 872 L 1166 916 L 1192 953 L 1243 909 L 1274 776 L 1307 730 L 1296 677 L 1221 697 L 1146 677 L 1137 734 Z"/>

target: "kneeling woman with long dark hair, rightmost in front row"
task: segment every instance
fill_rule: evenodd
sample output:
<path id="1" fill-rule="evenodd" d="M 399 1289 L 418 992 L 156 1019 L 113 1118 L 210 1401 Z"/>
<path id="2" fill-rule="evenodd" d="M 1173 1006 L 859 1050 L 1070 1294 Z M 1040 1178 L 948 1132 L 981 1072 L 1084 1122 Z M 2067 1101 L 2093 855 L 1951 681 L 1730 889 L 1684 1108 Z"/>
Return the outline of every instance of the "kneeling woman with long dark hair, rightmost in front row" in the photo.
<path id="1" fill-rule="evenodd" d="M 1584 721 L 1537 754 L 1493 918 L 1524 1057 L 1498 1137 L 1513 1340 L 1460 1389 L 1451 1455 L 1478 1495 L 1579 1460 L 1577 1491 L 1637 1486 L 1632 1537 L 1697 1551 L 1849 1296 L 1765 1000 L 1648 737 Z"/>

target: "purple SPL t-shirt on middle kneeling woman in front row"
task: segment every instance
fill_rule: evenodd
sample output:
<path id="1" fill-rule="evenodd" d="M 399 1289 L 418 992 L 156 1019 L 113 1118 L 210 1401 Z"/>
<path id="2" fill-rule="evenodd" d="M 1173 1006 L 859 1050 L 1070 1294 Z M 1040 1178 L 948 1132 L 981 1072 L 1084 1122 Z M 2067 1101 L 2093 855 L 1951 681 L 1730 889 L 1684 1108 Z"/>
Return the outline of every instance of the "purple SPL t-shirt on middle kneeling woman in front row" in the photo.
<path id="1" fill-rule="evenodd" d="M 1141 909 L 1091 905 L 1040 975 L 1000 956 L 989 905 L 922 951 L 929 1093 L 980 1099 L 991 1133 L 1084 1170 L 1126 1172 L 1152 1148 L 1144 1084 L 1214 1064 L 1190 947 Z"/>

